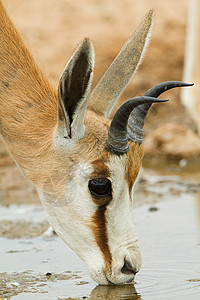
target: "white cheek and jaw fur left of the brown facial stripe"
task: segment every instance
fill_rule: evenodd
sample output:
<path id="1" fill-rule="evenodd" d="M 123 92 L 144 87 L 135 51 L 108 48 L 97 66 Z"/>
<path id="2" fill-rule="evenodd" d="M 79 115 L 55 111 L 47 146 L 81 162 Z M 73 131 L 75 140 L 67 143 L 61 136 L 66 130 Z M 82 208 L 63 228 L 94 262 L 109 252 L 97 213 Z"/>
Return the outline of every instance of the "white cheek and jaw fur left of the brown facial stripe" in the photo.
<path id="1" fill-rule="evenodd" d="M 90 227 L 91 217 L 97 209 L 88 191 L 89 175 L 92 167 L 81 164 L 76 169 L 74 179 L 67 184 L 63 205 L 54 205 L 42 191 L 39 196 L 48 215 L 48 221 L 56 233 L 85 262 L 90 276 L 101 284 L 108 281 L 104 274 L 104 260 Z M 74 193 L 68 194 L 68 191 Z"/>

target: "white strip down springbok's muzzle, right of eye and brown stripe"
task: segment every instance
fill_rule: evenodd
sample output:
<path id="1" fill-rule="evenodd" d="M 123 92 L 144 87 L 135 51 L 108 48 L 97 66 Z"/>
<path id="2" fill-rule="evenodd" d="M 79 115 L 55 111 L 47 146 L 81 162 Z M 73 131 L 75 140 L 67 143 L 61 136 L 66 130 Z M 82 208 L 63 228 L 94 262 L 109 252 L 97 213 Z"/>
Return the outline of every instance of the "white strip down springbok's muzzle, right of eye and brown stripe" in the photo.
<path id="1" fill-rule="evenodd" d="M 132 202 L 129 187 L 125 180 L 127 156 L 110 156 L 108 167 L 113 183 L 113 199 L 107 206 L 105 215 L 107 221 L 108 245 L 112 255 L 111 281 L 118 278 L 126 255 L 138 271 L 141 267 L 141 254 L 136 234 Z"/>

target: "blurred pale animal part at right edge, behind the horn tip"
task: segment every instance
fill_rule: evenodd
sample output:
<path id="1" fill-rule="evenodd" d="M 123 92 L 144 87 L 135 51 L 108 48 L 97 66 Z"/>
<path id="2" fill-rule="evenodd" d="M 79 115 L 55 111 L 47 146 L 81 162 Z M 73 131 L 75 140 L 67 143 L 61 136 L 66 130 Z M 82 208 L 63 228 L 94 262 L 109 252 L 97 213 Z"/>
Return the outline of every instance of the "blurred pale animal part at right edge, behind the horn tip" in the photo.
<path id="1" fill-rule="evenodd" d="M 200 0 L 189 1 L 184 80 L 194 81 L 193 89 L 183 90 L 181 100 L 200 135 Z"/>

